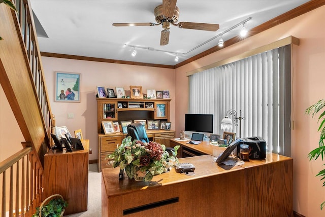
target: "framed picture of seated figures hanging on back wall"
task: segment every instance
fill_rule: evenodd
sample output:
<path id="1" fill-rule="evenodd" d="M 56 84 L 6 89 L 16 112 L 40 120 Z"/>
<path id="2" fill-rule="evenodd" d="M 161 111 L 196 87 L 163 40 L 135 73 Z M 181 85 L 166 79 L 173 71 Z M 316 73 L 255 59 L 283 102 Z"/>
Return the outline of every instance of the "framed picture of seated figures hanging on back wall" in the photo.
<path id="1" fill-rule="evenodd" d="M 80 73 L 55 72 L 56 102 L 80 102 Z"/>

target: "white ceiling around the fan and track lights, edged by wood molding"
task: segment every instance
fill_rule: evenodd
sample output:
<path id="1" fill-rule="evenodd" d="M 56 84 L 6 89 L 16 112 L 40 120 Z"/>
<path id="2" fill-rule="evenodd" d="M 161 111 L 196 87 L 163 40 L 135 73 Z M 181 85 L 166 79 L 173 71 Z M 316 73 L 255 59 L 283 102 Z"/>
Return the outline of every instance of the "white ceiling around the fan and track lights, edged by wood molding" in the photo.
<path id="1" fill-rule="evenodd" d="M 308 0 L 178 0 L 179 21 L 215 23 L 217 31 L 171 26 L 169 44 L 160 46 L 161 25 L 115 27 L 112 23 L 153 22 L 153 10 L 162 0 L 31 0 L 32 10 L 48 38 L 38 37 L 41 52 L 114 60 L 175 65 L 175 54 L 136 49 L 135 45 L 174 53 L 187 53 L 226 29 L 251 17 L 249 30 Z M 225 33 L 224 41 L 238 35 L 241 26 Z M 179 55 L 182 62 L 218 44 L 219 38 Z"/>

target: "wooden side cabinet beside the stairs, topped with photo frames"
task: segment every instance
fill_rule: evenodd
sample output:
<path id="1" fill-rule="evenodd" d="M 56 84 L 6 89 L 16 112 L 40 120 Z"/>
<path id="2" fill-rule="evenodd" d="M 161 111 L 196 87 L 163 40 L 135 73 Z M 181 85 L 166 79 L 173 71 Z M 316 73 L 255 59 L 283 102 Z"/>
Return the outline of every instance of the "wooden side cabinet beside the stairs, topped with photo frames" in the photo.
<path id="1" fill-rule="evenodd" d="M 87 210 L 89 139 L 83 139 L 84 150 L 48 151 L 44 156 L 43 200 L 60 194 L 68 201 L 64 214 Z"/>

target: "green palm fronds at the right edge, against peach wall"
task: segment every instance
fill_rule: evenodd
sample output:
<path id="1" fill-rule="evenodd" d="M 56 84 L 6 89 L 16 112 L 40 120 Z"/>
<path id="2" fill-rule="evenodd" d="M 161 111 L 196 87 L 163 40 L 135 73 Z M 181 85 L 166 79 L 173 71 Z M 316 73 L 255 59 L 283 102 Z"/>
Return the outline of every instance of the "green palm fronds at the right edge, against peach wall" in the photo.
<path id="1" fill-rule="evenodd" d="M 308 115 L 312 115 L 312 117 L 314 117 L 314 115 L 316 115 L 317 113 L 320 112 L 320 115 L 318 117 L 318 122 L 319 123 L 319 127 L 318 127 L 318 131 L 320 131 L 320 136 L 319 136 L 319 140 L 318 140 L 318 148 L 312 150 L 309 154 L 308 154 L 308 158 L 309 160 L 316 160 L 319 156 L 321 156 L 321 160 L 323 161 L 323 157 L 325 154 L 325 146 L 324 146 L 324 139 L 325 139 L 325 110 L 323 110 L 325 106 L 325 101 L 324 100 L 319 100 L 318 102 L 316 102 L 315 104 L 311 105 L 310 107 L 308 107 L 305 111 L 305 113 L 307 113 Z M 324 180 L 325 179 L 325 169 L 321 170 L 318 172 L 318 174 L 316 176 L 320 176 L 320 180 Z M 325 186 L 325 180 L 323 182 L 323 187 Z M 320 204 L 320 209 L 324 208 L 325 206 L 325 201 Z"/>

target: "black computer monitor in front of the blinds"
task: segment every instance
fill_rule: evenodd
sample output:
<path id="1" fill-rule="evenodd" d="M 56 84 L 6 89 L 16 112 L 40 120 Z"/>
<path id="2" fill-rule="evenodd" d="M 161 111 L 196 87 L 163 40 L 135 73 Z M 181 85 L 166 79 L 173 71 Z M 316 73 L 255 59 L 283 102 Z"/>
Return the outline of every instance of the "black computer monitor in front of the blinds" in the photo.
<path id="1" fill-rule="evenodd" d="M 213 133 L 213 115 L 185 114 L 185 131 Z"/>

